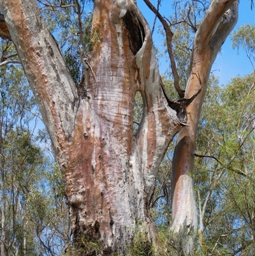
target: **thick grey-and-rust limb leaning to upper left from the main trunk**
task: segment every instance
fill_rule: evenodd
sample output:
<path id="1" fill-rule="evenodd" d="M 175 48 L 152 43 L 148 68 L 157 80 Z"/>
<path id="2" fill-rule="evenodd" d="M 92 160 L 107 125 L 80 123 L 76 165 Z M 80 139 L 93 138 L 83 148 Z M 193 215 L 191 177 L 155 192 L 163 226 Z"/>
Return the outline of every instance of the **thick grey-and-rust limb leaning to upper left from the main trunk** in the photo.
<path id="1" fill-rule="evenodd" d="M 71 137 L 77 88 L 35 0 L 3 0 L 0 8 L 54 147 Z M 58 138 L 58 139 L 57 139 Z"/>

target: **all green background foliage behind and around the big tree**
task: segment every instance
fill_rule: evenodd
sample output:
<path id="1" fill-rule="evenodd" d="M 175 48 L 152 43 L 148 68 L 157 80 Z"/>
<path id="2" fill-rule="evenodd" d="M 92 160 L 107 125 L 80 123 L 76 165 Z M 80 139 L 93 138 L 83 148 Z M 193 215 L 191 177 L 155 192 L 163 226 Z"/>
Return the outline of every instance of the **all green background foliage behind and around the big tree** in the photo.
<path id="1" fill-rule="evenodd" d="M 73 1 L 38 1 L 48 29 L 59 44 L 62 56 L 76 84 L 82 79 L 80 38 Z M 92 13 L 82 5 L 85 54 L 98 47 L 101 34 L 92 31 Z M 169 18 L 173 31 L 173 52 L 184 88 L 189 72 L 193 36 L 206 1 L 175 1 L 175 15 Z M 64 7 L 68 6 L 69 7 Z M 245 25 L 233 33 L 233 47 L 244 48 L 252 65 L 255 27 Z M 1 41 L 1 55 L 15 52 L 10 42 Z M 169 73 L 171 77 L 171 72 Z M 172 78 L 172 77 L 171 77 Z M 173 80 L 163 78 L 170 98 L 178 98 Z M 10 255 L 99 255 L 101 244 L 82 237 L 69 239 L 69 220 L 64 199 L 64 183 L 59 165 L 45 152 L 48 143 L 43 130 L 35 135 L 38 110 L 19 65 L 0 68 L 0 165 L 1 216 L 5 215 L 4 243 Z M 36 114 L 32 114 L 32 113 Z M 210 78 L 196 140 L 193 175 L 200 223 L 200 239 L 194 255 L 254 255 L 255 245 L 255 160 L 254 160 L 254 73 L 232 79 L 225 87 Z M 142 121 L 143 99 L 137 93 L 134 134 Z M 152 245 L 145 227 L 138 225 L 127 256 L 179 255 L 176 241 L 168 229 L 171 223 L 170 145 L 156 180 L 150 216 L 159 232 Z M 203 209 L 205 211 L 203 212 Z M 203 224 L 203 225 L 202 225 Z M 3 230 L 3 227 L 2 227 Z M 117 256 L 117 253 L 115 253 Z"/>

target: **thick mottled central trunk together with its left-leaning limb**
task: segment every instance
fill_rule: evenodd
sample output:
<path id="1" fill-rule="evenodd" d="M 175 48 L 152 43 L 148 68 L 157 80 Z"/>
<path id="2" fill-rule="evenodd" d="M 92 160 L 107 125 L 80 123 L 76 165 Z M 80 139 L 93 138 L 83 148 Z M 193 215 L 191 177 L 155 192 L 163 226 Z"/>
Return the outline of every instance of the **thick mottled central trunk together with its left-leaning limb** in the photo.
<path id="1" fill-rule="evenodd" d="M 133 1 L 94 1 L 92 34 L 99 41 L 87 88 L 77 90 L 35 1 L 3 0 L 1 9 L 64 169 L 75 241 L 96 240 L 101 255 L 124 255 L 142 223 L 153 243 L 149 204 L 181 126 L 164 98 L 140 11 Z M 133 136 L 137 91 L 144 109 Z"/>

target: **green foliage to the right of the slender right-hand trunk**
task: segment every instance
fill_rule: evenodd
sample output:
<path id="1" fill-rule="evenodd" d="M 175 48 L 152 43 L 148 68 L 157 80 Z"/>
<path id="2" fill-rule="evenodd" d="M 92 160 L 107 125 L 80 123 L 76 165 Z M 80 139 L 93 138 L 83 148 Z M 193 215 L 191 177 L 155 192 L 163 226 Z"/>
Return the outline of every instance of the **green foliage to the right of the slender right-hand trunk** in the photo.
<path id="1" fill-rule="evenodd" d="M 198 202 L 205 207 L 198 252 L 254 255 L 253 82 L 254 74 L 237 77 L 226 87 L 215 80 L 208 88 L 194 174 Z"/>

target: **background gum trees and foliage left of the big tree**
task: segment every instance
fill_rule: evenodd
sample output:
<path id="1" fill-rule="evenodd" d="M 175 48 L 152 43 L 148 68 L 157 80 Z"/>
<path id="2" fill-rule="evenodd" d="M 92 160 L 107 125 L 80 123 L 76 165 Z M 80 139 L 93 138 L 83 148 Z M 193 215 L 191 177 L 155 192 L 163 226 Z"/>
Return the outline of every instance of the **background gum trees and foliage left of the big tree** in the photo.
<path id="1" fill-rule="evenodd" d="M 0 54 L 1 255 L 56 255 L 69 242 L 61 172 L 36 136 L 40 114 L 13 44 L 1 40 Z"/>

